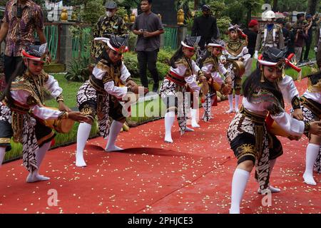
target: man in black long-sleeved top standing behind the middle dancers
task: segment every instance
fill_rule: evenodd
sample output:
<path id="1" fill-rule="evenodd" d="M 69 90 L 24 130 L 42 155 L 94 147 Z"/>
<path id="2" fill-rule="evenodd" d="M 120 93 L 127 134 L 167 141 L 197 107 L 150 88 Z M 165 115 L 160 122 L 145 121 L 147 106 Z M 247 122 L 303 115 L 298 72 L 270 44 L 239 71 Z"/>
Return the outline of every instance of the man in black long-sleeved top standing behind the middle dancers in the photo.
<path id="1" fill-rule="evenodd" d="M 191 36 L 200 36 L 198 45 L 204 49 L 205 43 L 210 43 L 211 38 L 218 38 L 218 26 L 215 17 L 210 15 L 210 6 L 202 6 L 202 12 L 202 16 L 194 19 Z"/>

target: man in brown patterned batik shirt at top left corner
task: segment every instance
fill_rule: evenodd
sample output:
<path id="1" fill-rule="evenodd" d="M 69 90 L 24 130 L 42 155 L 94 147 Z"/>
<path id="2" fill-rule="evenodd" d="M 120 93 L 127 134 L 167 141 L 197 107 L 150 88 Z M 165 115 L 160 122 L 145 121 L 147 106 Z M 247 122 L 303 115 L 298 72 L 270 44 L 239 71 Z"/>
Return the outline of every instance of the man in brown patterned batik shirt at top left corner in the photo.
<path id="1" fill-rule="evenodd" d="M 4 51 L 4 74 L 6 83 L 22 62 L 21 51 L 24 47 L 35 43 L 35 31 L 40 43 L 46 43 L 44 36 L 44 13 L 41 6 L 31 0 L 9 0 L 4 12 L 0 30 L 0 43 L 6 37 Z"/>

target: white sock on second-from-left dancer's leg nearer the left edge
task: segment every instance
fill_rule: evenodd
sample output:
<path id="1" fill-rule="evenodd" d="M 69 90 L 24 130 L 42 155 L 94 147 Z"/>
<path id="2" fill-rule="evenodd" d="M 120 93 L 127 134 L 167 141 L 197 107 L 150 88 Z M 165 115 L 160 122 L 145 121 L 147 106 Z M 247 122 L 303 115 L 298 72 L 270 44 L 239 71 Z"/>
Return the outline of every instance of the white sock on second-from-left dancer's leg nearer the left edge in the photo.
<path id="1" fill-rule="evenodd" d="M 77 132 L 77 151 L 76 151 L 76 166 L 85 167 L 86 162 L 83 159 L 83 150 L 89 134 L 91 133 L 91 125 L 88 123 L 80 123 Z"/>

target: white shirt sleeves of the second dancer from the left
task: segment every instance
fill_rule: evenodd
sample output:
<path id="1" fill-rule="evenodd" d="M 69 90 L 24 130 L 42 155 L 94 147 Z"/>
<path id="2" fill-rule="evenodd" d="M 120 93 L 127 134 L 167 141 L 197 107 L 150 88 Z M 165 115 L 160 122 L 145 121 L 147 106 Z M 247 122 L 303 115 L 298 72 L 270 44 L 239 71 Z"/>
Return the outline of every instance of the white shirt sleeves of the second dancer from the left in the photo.
<path id="1" fill-rule="evenodd" d="M 93 68 L 93 76 L 99 80 L 103 79 L 103 76 L 105 76 L 106 74 L 106 70 L 98 68 L 97 66 L 95 66 L 95 68 Z M 123 84 L 126 83 L 126 80 L 129 78 L 129 76 L 131 76 L 131 73 L 129 73 L 128 69 L 126 68 L 126 66 L 122 63 L 121 64 L 121 81 L 123 82 Z M 103 84 L 103 87 L 105 88 L 106 92 L 114 95 L 116 98 L 123 98 L 126 93 L 127 93 L 127 87 L 119 87 L 115 85 L 114 81 L 108 81 L 107 83 Z"/>

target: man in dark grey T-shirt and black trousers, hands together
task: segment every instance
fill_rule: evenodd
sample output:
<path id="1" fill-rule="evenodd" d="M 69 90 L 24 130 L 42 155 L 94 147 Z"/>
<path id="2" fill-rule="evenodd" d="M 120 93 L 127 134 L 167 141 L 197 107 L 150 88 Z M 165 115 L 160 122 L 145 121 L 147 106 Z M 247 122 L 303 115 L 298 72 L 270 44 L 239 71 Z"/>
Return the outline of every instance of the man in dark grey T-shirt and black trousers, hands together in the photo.
<path id="1" fill-rule="evenodd" d="M 148 88 L 148 78 L 146 75 L 148 68 L 154 81 L 153 92 L 156 92 L 159 86 L 156 62 L 161 46 L 161 33 L 164 32 L 164 27 L 161 19 L 151 11 L 151 6 L 151 0 L 141 1 L 141 11 L 143 13 L 136 17 L 133 24 L 133 33 L 138 35 L 136 51 L 141 83 L 145 88 Z"/>

